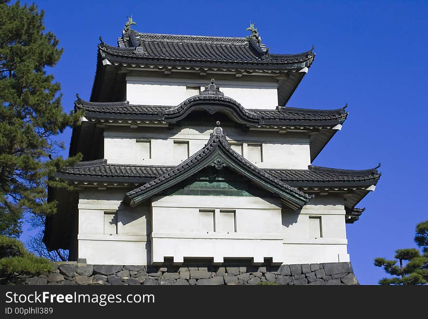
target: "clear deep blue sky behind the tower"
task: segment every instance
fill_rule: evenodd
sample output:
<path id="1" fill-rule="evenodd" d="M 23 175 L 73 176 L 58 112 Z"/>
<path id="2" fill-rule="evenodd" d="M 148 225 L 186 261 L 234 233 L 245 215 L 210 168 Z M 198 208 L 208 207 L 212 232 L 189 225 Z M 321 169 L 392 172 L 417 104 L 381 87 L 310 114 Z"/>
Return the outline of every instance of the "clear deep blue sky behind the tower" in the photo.
<path id="1" fill-rule="evenodd" d="M 315 62 L 288 106 L 332 109 L 348 103 L 342 131 L 314 165 L 364 169 L 378 162 L 382 177 L 355 224 L 346 226 L 348 252 L 361 284 L 377 284 L 375 257 L 415 247 L 416 223 L 428 219 L 427 1 L 36 1 L 64 54 L 52 69 L 63 107 L 75 93 L 89 99 L 98 37 L 116 45 L 126 16 L 148 33 L 246 36 L 256 24 L 272 53 L 315 45 Z M 61 135 L 68 151 L 70 130 Z M 67 152 L 64 152 L 66 156 Z M 25 232 L 23 239 L 28 235 Z"/>

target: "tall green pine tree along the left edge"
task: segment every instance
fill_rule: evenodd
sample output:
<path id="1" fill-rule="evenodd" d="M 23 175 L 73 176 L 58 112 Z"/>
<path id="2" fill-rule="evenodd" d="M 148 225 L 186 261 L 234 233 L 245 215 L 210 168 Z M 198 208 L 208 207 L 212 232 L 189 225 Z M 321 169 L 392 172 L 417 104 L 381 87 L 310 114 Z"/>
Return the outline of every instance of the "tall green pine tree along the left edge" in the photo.
<path id="1" fill-rule="evenodd" d="M 55 156 L 55 135 L 78 124 L 61 106 L 60 84 L 48 74 L 63 49 L 46 32 L 35 4 L 0 0 L 0 235 L 18 236 L 25 213 L 54 214 L 47 186 L 66 187 L 54 173 L 79 160 Z"/>

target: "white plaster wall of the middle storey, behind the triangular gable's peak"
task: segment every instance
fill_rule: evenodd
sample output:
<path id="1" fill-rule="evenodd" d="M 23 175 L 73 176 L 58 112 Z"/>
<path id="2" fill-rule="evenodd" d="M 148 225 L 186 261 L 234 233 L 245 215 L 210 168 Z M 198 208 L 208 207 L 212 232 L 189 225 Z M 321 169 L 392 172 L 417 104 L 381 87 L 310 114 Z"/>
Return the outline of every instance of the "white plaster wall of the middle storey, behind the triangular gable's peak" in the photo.
<path id="1" fill-rule="evenodd" d="M 310 165 L 309 137 L 305 134 L 278 134 L 276 132 L 250 131 L 243 133 L 235 128 L 223 127 L 231 142 L 243 143 L 243 156 L 247 156 L 249 143 L 262 144 L 263 162 L 256 163 L 259 168 L 307 169 Z M 212 127 L 139 128 L 111 129 L 104 132 L 104 158 L 109 163 L 135 165 L 178 165 L 179 160 L 171 156 L 174 141 L 188 141 L 189 154 L 199 151 L 210 138 Z M 151 140 L 151 159 L 138 155 L 136 139 Z"/>

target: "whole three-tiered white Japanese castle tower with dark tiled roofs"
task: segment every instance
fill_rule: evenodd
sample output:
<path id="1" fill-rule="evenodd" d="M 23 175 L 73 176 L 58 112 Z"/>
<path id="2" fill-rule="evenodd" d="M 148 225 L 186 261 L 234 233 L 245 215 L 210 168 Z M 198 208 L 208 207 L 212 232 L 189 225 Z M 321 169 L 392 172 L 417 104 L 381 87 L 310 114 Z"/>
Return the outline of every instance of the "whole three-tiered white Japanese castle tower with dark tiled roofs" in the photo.
<path id="1" fill-rule="evenodd" d="M 147 34 L 125 25 L 98 45 L 89 101 L 50 189 L 49 250 L 89 264 L 349 262 L 345 223 L 376 168 L 311 163 L 345 107 L 287 106 L 315 53 L 276 54 L 246 37 Z M 215 79 L 215 80 L 214 80 Z"/>

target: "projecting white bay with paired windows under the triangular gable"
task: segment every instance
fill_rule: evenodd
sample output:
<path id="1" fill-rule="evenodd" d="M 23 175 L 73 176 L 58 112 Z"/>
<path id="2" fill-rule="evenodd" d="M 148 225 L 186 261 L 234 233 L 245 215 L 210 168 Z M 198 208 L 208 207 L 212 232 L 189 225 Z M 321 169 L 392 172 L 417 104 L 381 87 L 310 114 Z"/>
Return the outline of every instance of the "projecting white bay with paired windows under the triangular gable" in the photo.
<path id="1" fill-rule="evenodd" d="M 199 209 L 214 209 L 218 225 L 220 210 L 235 210 L 236 232 L 207 232 L 199 227 Z M 152 261 L 173 257 L 224 258 L 265 257 L 281 263 L 281 203 L 276 199 L 233 196 L 166 196 L 152 202 Z"/>

